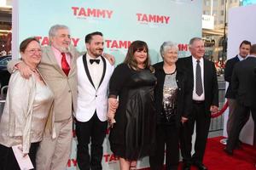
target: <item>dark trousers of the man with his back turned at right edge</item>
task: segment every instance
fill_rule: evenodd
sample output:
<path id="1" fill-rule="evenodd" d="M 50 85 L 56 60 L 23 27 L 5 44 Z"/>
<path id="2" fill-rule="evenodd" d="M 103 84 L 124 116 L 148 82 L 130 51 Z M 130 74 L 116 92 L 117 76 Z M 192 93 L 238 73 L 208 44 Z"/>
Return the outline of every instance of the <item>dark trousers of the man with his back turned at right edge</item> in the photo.
<path id="1" fill-rule="evenodd" d="M 256 109 L 241 105 L 237 102 L 236 111 L 234 112 L 235 114 L 234 123 L 230 129 L 230 136 L 228 138 L 228 143 L 226 146 L 227 150 L 235 149 L 236 141 L 238 141 L 239 139 L 239 134 L 241 133 L 242 127 L 244 127 L 244 125 L 247 123 L 248 117 L 250 116 L 250 111 L 252 112 L 254 127 L 256 127 Z M 255 130 L 254 130 L 254 137 L 255 137 Z"/>

